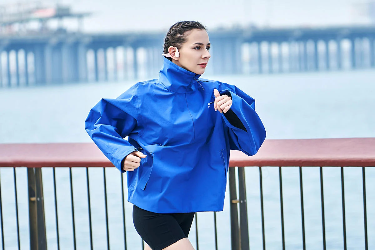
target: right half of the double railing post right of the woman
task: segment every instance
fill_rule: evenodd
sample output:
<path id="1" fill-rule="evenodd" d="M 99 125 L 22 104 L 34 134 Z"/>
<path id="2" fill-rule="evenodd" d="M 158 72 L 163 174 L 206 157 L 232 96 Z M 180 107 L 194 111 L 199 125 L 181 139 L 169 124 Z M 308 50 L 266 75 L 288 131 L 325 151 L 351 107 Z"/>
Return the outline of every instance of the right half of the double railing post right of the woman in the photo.
<path id="1" fill-rule="evenodd" d="M 245 167 L 238 168 L 238 186 L 240 200 L 240 243 L 241 250 L 249 250 L 248 208 L 246 203 Z"/>

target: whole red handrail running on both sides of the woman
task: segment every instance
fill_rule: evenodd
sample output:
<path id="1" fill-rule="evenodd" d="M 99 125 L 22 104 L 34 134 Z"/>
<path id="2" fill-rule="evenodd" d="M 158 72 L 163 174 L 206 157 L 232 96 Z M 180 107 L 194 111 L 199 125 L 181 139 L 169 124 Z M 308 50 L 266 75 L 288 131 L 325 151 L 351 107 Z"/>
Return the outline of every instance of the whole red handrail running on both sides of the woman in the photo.
<path id="1" fill-rule="evenodd" d="M 375 138 L 273 139 L 247 156 L 232 150 L 234 166 L 375 166 Z M 94 143 L 0 144 L 0 167 L 110 167 Z"/>

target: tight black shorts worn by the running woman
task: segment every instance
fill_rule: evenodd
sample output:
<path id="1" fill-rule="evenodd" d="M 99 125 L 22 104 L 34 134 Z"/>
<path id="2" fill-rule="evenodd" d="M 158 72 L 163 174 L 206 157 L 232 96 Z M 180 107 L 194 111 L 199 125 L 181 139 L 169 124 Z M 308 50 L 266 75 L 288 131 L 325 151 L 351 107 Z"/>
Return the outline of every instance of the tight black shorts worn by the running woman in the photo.
<path id="1" fill-rule="evenodd" d="M 182 238 L 187 238 L 194 214 L 159 214 L 133 205 L 135 230 L 152 250 L 161 250 Z"/>

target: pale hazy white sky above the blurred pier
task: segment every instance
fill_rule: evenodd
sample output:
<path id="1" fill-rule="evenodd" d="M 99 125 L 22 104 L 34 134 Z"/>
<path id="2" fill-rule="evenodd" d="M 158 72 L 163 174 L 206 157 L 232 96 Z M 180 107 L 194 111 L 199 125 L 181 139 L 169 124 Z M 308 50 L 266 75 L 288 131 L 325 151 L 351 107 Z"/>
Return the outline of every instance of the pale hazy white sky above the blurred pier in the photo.
<path id="1" fill-rule="evenodd" d="M 29 0 L 20 0 L 27 2 Z M 17 3 L 18 0 L 1 0 Z M 358 11 L 366 0 L 42 0 L 70 5 L 73 12 L 92 12 L 85 18 L 87 32 L 168 30 L 178 21 L 199 21 L 207 29 L 253 24 L 262 27 L 369 24 Z M 357 7 L 356 7 L 357 6 Z M 53 25 L 53 24 L 52 24 Z M 73 21 L 65 21 L 76 29 Z"/>

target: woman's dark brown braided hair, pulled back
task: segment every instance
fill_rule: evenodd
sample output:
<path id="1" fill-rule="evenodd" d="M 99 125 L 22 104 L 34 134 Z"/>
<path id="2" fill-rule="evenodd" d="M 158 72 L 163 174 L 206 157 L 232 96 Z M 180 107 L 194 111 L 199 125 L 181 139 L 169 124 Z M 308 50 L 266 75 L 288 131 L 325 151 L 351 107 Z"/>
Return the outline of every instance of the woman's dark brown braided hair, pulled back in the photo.
<path id="1" fill-rule="evenodd" d="M 182 44 L 186 42 L 186 32 L 193 29 L 206 30 L 200 22 L 196 21 L 181 21 L 173 24 L 166 33 L 163 53 L 168 53 L 169 46 L 180 49 Z M 167 57 L 167 59 L 172 61 L 171 57 Z"/>

